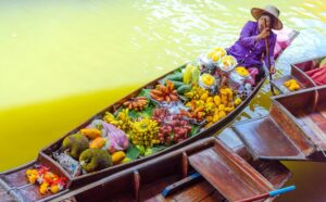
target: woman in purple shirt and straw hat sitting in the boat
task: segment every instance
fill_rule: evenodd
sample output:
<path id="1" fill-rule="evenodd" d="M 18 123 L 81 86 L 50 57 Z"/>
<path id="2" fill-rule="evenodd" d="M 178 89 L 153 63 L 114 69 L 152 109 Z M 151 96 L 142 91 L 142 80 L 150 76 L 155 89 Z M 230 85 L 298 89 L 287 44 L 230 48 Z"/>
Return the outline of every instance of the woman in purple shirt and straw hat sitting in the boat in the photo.
<path id="1" fill-rule="evenodd" d="M 281 29 L 283 24 L 278 18 L 279 10 L 273 5 L 264 9 L 251 9 L 252 16 L 256 22 L 247 22 L 243 26 L 240 38 L 227 49 L 227 53 L 235 56 L 238 64 L 247 68 L 255 67 L 259 71 L 259 77 L 264 75 L 263 60 L 267 65 L 265 38 L 269 43 L 269 60 L 272 74 L 275 73 L 274 48 L 276 35 L 271 29 Z"/>

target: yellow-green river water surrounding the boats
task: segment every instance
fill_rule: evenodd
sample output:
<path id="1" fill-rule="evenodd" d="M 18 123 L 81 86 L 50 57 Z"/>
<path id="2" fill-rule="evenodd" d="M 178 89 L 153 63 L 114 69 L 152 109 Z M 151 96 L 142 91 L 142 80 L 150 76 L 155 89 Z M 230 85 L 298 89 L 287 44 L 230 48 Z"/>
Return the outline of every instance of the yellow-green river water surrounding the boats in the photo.
<path id="1" fill-rule="evenodd" d="M 130 90 L 212 47 L 230 46 L 252 20 L 250 8 L 268 3 L 280 9 L 285 26 L 301 31 L 276 76 L 290 63 L 326 55 L 325 0 L 1 1 L 0 171 L 35 159 Z M 267 113 L 268 90 L 242 119 Z M 325 164 L 287 165 L 298 190 L 279 201 L 323 199 Z"/>

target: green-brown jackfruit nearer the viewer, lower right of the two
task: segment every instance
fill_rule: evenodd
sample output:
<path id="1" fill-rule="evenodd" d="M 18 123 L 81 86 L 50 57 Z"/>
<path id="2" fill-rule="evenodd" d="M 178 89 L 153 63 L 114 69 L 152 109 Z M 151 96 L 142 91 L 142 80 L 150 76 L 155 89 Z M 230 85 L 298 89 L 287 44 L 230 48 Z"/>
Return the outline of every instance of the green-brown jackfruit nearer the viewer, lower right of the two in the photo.
<path id="1" fill-rule="evenodd" d="M 79 163 L 87 173 L 104 169 L 112 165 L 112 159 L 108 151 L 92 148 L 85 150 L 79 156 Z"/>

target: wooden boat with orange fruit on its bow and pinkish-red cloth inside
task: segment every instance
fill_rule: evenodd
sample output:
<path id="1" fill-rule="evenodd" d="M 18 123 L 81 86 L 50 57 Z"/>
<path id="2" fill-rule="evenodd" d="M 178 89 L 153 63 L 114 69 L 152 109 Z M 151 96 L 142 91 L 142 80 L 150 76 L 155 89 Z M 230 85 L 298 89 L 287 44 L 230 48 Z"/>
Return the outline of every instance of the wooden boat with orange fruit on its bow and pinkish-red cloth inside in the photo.
<path id="1" fill-rule="evenodd" d="M 290 92 L 289 89 L 284 86 L 284 83 L 290 79 L 296 79 L 300 86 L 300 89 L 316 87 L 317 85 L 314 83 L 313 79 L 311 79 L 311 77 L 309 77 L 305 74 L 305 72 L 317 68 L 319 66 L 321 61 L 323 61 L 325 58 L 326 56 L 318 56 L 291 64 L 290 75 L 274 79 L 271 81 L 271 84 L 280 93 Z"/>

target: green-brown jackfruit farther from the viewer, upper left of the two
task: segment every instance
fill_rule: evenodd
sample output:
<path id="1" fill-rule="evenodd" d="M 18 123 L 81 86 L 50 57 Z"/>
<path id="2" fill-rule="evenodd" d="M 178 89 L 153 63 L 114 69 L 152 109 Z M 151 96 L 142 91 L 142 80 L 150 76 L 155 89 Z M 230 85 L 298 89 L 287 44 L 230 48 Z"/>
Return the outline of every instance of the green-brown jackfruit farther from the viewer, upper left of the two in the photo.
<path id="1" fill-rule="evenodd" d="M 83 136 L 82 134 L 74 134 L 71 135 L 62 141 L 61 149 L 63 151 L 66 151 L 66 153 L 74 157 L 75 160 L 78 160 L 80 153 L 88 149 L 88 139 L 86 136 Z"/>

